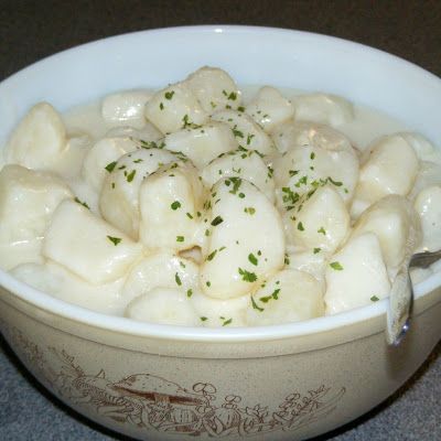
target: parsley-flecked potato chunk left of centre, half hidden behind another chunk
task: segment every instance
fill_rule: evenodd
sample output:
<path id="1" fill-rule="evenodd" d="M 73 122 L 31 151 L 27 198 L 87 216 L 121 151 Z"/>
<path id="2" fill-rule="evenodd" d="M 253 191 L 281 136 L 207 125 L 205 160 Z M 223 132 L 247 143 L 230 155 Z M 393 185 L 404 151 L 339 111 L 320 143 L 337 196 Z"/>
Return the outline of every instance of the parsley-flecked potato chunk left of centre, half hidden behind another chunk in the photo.
<path id="1" fill-rule="evenodd" d="M 164 149 L 144 148 L 106 165 L 99 195 L 103 217 L 133 239 L 139 237 L 139 189 L 142 181 L 176 157 Z"/>

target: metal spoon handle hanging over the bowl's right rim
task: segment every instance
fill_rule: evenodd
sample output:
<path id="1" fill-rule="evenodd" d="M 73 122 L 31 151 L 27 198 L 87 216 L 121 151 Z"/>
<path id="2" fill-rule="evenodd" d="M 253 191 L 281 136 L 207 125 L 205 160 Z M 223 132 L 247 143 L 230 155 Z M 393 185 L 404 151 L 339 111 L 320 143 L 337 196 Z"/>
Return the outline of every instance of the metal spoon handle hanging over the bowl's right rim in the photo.
<path id="1" fill-rule="evenodd" d="M 398 346 L 410 329 L 410 312 L 413 303 L 413 286 L 410 268 L 428 268 L 441 259 L 441 250 L 415 254 L 401 266 L 392 283 L 387 309 L 386 340 Z"/>

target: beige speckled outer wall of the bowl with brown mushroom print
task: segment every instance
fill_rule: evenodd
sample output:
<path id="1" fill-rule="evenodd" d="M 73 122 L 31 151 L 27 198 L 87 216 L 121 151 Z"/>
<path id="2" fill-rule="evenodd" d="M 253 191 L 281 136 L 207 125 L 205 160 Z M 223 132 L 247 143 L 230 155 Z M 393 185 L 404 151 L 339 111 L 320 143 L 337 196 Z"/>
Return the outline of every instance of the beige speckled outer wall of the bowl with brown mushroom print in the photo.
<path id="1" fill-rule="evenodd" d="M 303 440 L 365 413 L 422 364 L 441 335 L 441 289 L 419 298 L 388 347 L 383 315 L 254 343 L 121 334 L 36 309 L 2 290 L 0 330 L 49 390 L 140 440 Z"/>

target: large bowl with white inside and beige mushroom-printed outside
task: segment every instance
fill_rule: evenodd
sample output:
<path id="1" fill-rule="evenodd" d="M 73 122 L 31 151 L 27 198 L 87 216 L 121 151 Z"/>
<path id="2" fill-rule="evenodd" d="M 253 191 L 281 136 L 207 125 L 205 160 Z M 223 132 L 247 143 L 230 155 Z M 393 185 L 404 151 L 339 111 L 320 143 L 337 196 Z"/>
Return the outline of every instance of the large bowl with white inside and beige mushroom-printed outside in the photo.
<path id="1" fill-rule="evenodd" d="M 0 84 L 0 144 L 40 100 L 60 110 L 202 65 L 239 84 L 326 90 L 380 109 L 441 146 L 441 80 L 395 56 L 304 32 L 195 26 L 86 44 Z M 252 329 L 137 323 L 58 301 L 0 273 L 0 330 L 51 391 L 139 439 L 300 440 L 394 392 L 441 336 L 441 273 L 416 288 L 410 334 L 385 343 L 386 301 L 335 316 Z"/>

